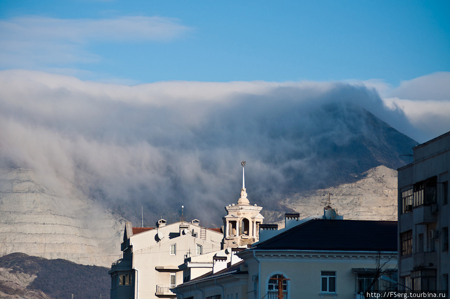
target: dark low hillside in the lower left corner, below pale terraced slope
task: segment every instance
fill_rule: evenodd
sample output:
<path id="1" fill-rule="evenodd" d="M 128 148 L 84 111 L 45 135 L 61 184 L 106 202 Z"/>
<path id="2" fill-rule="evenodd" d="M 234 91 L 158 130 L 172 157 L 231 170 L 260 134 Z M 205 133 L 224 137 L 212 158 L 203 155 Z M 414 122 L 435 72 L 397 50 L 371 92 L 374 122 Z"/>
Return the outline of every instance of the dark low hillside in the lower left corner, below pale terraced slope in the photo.
<path id="1" fill-rule="evenodd" d="M 96 299 L 109 297 L 108 268 L 24 253 L 0 257 L 0 298 Z M 82 286 L 82 287 L 80 287 Z"/>

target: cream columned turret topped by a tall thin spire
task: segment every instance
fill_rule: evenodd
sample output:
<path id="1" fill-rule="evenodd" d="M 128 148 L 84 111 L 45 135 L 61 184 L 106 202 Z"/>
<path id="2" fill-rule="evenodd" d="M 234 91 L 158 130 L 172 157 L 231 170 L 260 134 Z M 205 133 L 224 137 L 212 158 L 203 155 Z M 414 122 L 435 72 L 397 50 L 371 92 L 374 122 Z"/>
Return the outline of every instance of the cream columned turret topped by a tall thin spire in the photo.
<path id="1" fill-rule="evenodd" d="M 259 213 L 261 206 L 256 204 L 250 205 L 245 190 L 245 161 L 241 161 L 242 165 L 242 187 L 240 188 L 240 197 L 237 204 L 229 204 L 225 206 L 228 212 L 223 217 L 224 237 L 223 247 L 237 247 L 257 242 L 259 239 L 259 224 L 262 223 L 264 217 Z"/>

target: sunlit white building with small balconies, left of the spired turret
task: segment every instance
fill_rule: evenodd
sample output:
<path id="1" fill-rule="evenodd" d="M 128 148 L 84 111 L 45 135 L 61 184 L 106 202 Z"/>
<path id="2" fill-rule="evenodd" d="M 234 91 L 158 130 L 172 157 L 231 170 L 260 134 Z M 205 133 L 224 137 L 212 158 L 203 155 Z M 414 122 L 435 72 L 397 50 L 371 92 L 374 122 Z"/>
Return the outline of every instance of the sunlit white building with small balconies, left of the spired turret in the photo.
<path id="1" fill-rule="evenodd" d="M 196 222 L 176 222 L 143 232 L 125 224 L 123 258 L 111 270 L 111 299 L 175 297 L 170 288 L 183 281 L 181 265 L 189 256 L 220 250 L 223 234 Z M 128 275 L 128 276 L 127 276 Z"/>

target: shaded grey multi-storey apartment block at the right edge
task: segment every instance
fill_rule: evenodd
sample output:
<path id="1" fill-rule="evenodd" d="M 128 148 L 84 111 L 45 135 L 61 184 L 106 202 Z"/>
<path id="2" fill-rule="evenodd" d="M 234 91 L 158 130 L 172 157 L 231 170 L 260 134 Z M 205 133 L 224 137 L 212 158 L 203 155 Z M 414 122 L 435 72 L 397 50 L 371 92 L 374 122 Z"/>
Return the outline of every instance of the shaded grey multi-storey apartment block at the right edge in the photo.
<path id="1" fill-rule="evenodd" d="M 413 148 L 398 168 L 398 275 L 401 289 L 448 290 L 450 132 Z"/>

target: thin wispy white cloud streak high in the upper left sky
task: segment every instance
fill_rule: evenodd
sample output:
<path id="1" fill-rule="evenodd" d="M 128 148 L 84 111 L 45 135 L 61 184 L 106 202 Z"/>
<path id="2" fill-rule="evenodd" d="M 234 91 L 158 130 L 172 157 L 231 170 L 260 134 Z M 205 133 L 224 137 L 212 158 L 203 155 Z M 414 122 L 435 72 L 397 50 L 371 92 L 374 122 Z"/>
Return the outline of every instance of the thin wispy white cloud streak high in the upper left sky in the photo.
<path id="1" fill-rule="evenodd" d="M 168 41 L 191 30 L 178 19 L 122 16 L 113 19 L 58 19 L 40 16 L 0 21 L 0 66 L 36 68 L 101 59 L 91 42 Z"/>

